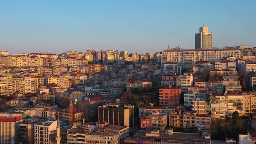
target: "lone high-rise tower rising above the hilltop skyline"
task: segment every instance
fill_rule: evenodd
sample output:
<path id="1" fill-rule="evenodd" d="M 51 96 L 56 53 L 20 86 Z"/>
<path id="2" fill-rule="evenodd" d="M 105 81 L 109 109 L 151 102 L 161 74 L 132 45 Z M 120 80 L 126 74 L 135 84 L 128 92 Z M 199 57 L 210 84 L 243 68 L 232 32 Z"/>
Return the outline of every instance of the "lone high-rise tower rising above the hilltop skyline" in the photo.
<path id="1" fill-rule="evenodd" d="M 196 49 L 210 49 L 212 48 L 212 35 L 208 33 L 208 27 L 200 27 L 199 33 L 195 34 L 195 48 Z"/>

